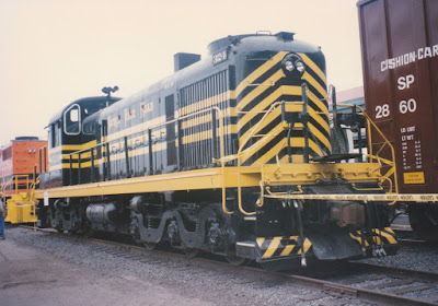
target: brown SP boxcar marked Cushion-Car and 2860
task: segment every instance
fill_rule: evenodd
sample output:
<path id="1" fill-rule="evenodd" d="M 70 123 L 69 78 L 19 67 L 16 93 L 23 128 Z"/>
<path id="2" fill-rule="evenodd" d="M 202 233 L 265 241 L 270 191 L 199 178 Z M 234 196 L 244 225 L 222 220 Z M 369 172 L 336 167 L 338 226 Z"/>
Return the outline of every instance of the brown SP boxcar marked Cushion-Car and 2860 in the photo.
<path id="1" fill-rule="evenodd" d="M 438 193 L 438 1 L 358 1 L 366 109 L 395 149 L 401 193 Z M 381 141 L 371 136 L 372 145 Z M 411 224 L 438 233 L 438 209 Z M 437 234 L 438 235 L 438 234 Z"/>

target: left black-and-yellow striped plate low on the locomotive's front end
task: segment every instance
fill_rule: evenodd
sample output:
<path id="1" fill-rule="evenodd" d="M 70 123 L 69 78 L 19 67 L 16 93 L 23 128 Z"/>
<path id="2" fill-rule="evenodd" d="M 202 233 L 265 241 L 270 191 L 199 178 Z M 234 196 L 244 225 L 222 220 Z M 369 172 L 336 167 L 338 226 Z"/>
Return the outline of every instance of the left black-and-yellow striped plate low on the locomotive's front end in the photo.
<path id="1" fill-rule="evenodd" d="M 258 237 L 256 242 L 262 259 L 269 259 L 290 255 L 300 255 L 302 248 L 298 244 L 298 236 L 277 236 L 273 238 Z M 306 238 L 303 243 L 304 252 L 308 252 L 311 246 L 311 242 Z"/>

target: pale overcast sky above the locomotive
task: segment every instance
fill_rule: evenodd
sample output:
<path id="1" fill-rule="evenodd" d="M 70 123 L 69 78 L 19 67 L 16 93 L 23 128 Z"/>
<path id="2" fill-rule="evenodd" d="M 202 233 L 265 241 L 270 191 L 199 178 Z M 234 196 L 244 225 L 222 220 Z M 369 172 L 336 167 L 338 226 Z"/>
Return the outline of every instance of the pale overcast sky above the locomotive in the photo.
<path id="1" fill-rule="evenodd" d="M 129 96 L 173 72 L 176 52 L 270 31 L 322 47 L 338 91 L 362 83 L 356 0 L 1 0 L 0 145 L 46 137 L 71 101 Z"/>

